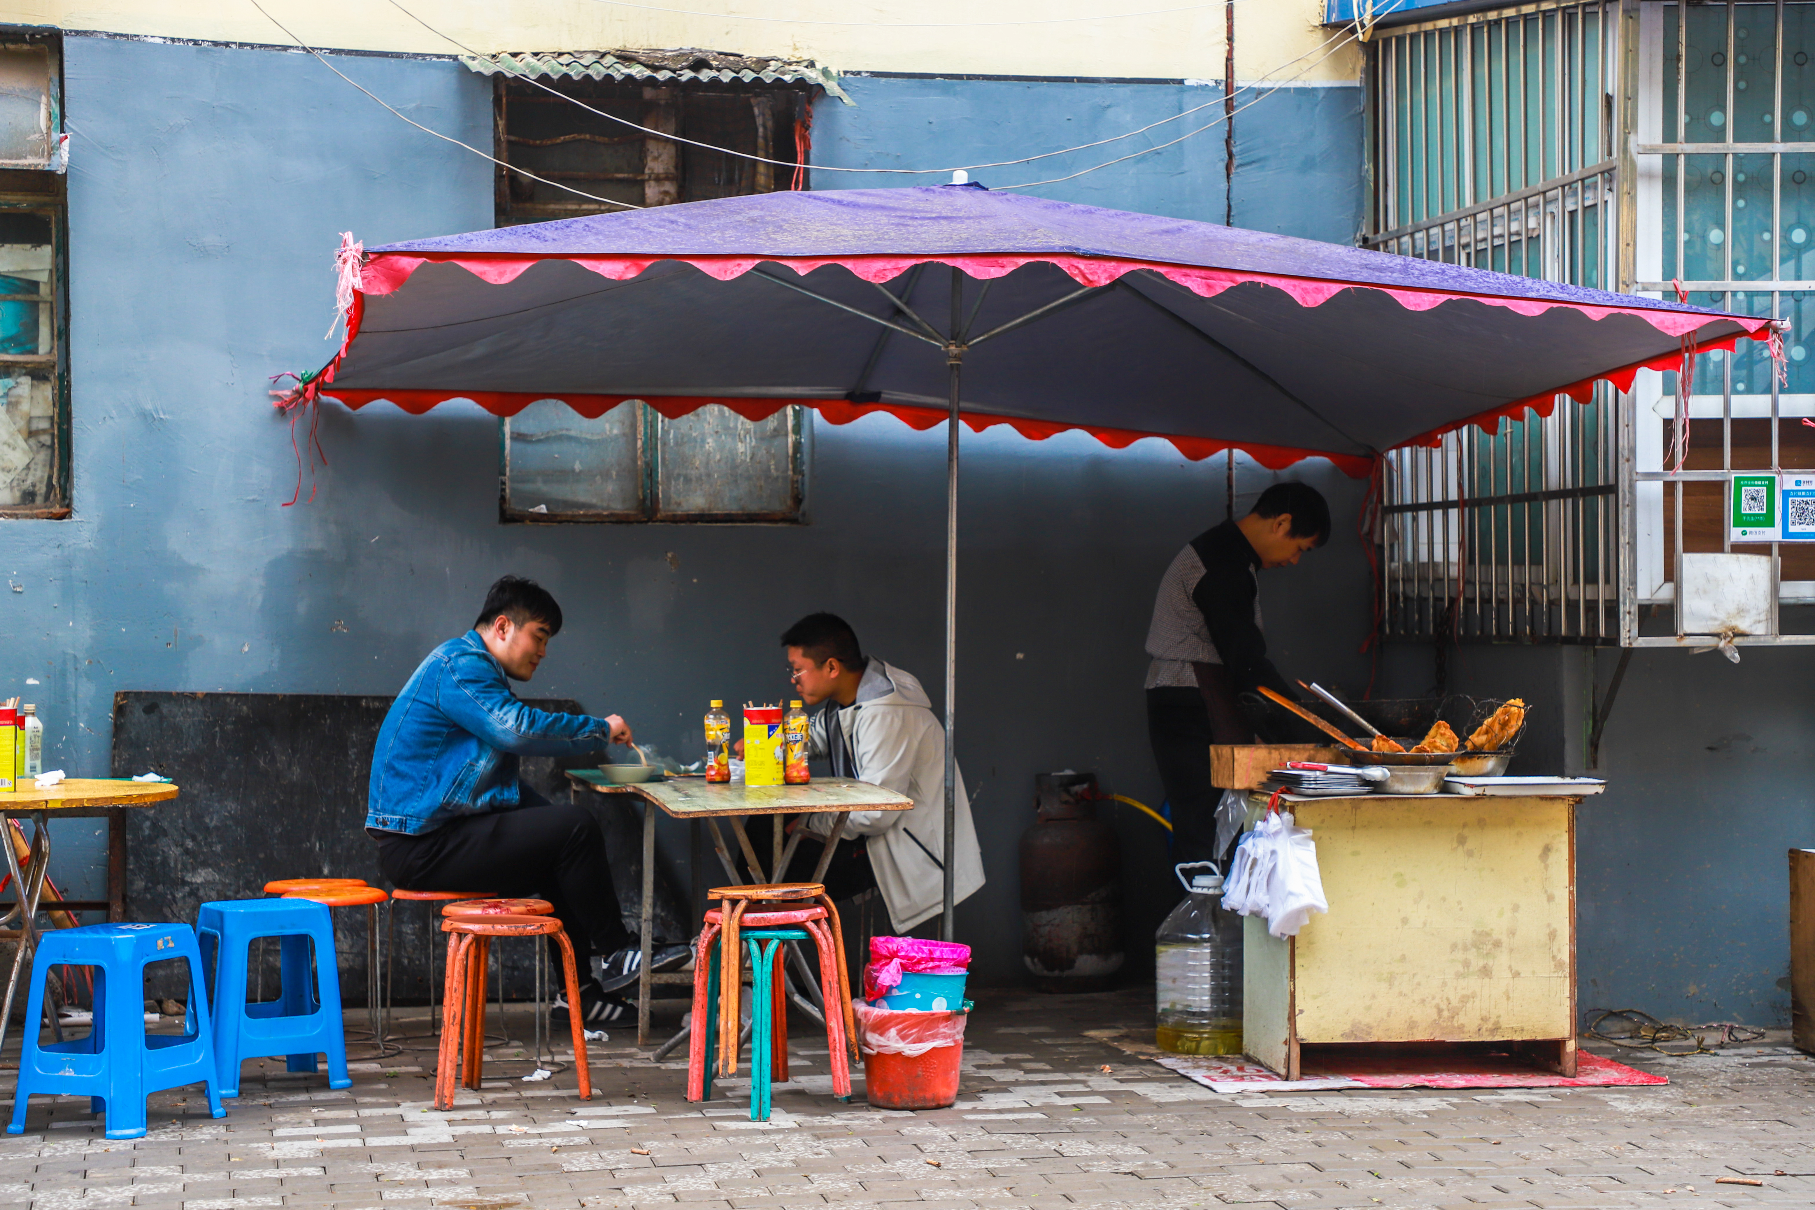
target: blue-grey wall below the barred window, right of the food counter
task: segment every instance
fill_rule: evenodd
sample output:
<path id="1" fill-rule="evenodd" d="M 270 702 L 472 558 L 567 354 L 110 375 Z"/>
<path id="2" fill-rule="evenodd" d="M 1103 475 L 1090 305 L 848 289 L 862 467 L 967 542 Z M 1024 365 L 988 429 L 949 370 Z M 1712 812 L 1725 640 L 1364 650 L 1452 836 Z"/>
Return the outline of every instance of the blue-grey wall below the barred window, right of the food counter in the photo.
<path id="1" fill-rule="evenodd" d="M 1608 780 L 1577 813 L 1579 1003 L 1784 1027 L 1786 851 L 1815 844 L 1815 749 L 1795 702 L 1815 653 L 1746 648 L 1735 666 L 1712 653 L 1635 651 L 1590 769 L 1592 700 L 1617 662 L 1612 649 L 1450 651 L 1452 691 L 1537 707 L 1516 773 Z M 1381 684 L 1427 691 L 1430 648 L 1388 648 Z"/>

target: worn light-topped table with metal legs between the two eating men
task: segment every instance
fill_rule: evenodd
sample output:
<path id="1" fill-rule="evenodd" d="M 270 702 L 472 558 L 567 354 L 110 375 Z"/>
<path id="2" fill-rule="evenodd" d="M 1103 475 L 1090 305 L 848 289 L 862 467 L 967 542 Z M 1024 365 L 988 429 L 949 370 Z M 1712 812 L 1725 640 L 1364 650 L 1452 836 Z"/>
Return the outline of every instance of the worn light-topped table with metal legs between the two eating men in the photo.
<path id="1" fill-rule="evenodd" d="M 813 876 L 808 882 L 819 882 L 826 876 L 826 867 L 831 864 L 831 851 L 839 844 L 839 834 L 844 831 L 844 820 L 851 811 L 913 811 L 913 798 L 906 795 L 897 795 L 893 789 L 884 789 L 882 786 L 871 786 L 869 782 L 858 782 L 844 776 L 822 776 L 813 778 L 808 786 L 744 786 L 742 782 L 706 782 L 697 776 L 679 776 L 666 782 L 643 782 L 637 786 L 617 786 L 606 782 L 597 769 L 568 769 L 568 780 L 575 787 L 586 787 L 597 793 L 630 793 L 644 800 L 644 804 L 653 804 L 661 807 L 664 815 L 677 820 L 704 820 L 711 829 L 711 844 L 719 854 L 719 862 L 724 865 L 724 873 L 733 883 L 742 882 L 742 874 L 737 873 L 737 862 L 731 858 L 731 851 L 724 842 L 724 833 L 719 829 L 719 820 L 726 820 L 731 825 L 731 833 L 737 836 L 737 845 L 744 854 L 744 862 L 750 864 L 750 871 L 757 880 L 771 880 L 773 871 L 788 869 L 793 860 L 795 849 L 800 845 L 800 833 L 797 829 L 793 836 L 788 838 L 786 847 L 782 845 L 782 831 L 773 831 L 773 853 L 770 854 L 768 871 L 764 873 L 764 864 L 757 856 L 755 845 L 750 844 L 750 833 L 744 829 L 744 816 L 750 815 L 831 815 L 831 833 L 826 840 L 826 851 L 819 854 L 819 864 L 813 869 Z M 692 983 L 692 974 L 655 974 L 650 971 L 650 920 L 653 916 L 655 902 L 655 813 L 644 807 L 643 811 L 643 912 L 639 922 L 639 938 L 643 943 L 643 967 L 641 978 L 637 980 L 637 1045 L 648 1045 L 650 1036 L 650 992 L 655 983 Z M 682 1034 L 670 1039 L 672 1047 Z M 664 1049 L 668 1049 L 664 1047 Z"/>

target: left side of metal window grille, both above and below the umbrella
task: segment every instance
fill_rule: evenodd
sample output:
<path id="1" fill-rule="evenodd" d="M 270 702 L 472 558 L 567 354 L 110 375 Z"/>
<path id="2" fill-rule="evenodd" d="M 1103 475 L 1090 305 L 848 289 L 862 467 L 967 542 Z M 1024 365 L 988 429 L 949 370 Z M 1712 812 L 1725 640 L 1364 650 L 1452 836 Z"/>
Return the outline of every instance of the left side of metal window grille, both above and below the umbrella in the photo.
<path id="1" fill-rule="evenodd" d="M 1401 27 L 1370 51 L 1365 247 L 1608 288 L 1617 281 L 1615 4 Z M 1612 642 L 1617 406 L 1468 428 L 1383 468 L 1388 637 Z"/>

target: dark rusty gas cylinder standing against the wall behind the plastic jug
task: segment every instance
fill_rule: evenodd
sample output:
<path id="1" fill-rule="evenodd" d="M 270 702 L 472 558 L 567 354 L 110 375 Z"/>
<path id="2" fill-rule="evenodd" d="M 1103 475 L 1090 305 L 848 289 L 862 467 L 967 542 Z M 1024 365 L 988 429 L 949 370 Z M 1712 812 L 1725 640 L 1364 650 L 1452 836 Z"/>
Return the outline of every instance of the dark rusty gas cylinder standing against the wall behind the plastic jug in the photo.
<path id="1" fill-rule="evenodd" d="M 1122 969 L 1122 845 L 1094 773 L 1040 773 L 1022 833 L 1022 961 L 1044 992 L 1107 989 Z"/>

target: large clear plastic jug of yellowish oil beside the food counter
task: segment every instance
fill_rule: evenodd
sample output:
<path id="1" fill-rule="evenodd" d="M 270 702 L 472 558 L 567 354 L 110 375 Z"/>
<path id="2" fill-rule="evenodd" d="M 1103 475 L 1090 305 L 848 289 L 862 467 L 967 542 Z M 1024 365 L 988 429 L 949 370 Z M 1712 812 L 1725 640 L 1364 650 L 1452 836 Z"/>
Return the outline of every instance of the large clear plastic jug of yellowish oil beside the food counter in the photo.
<path id="1" fill-rule="evenodd" d="M 1209 862 L 1185 883 L 1183 902 L 1160 925 L 1158 1029 L 1172 1054 L 1241 1054 L 1241 918 L 1223 909 L 1223 876 Z"/>

